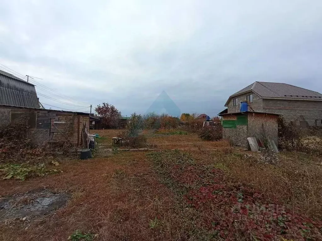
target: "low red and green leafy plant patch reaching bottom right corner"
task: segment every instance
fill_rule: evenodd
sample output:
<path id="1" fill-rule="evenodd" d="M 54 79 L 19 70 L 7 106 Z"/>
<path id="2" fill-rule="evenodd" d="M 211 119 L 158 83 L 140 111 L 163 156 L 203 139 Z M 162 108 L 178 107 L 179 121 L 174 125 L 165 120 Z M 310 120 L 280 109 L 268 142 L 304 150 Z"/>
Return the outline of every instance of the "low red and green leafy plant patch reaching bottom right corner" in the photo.
<path id="1" fill-rule="evenodd" d="M 161 180 L 197 211 L 193 236 L 199 239 L 321 239 L 322 222 L 298 215 L 218 168 L 198 165 L 182 151 L 148 154 Z M 186 217 L 188 218 L 188 217 Z"/>

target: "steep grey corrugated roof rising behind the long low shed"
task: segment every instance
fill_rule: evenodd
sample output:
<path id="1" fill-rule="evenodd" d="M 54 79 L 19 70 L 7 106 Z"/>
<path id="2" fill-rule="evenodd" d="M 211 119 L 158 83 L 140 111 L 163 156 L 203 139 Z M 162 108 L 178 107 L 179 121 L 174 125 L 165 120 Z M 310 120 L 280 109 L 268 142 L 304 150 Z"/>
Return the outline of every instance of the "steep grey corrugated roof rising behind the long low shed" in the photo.
<path id="1" fill-rule="evenodd" d="M 0 105 L 39 108 L 35 86 L 0 70 Z"/>

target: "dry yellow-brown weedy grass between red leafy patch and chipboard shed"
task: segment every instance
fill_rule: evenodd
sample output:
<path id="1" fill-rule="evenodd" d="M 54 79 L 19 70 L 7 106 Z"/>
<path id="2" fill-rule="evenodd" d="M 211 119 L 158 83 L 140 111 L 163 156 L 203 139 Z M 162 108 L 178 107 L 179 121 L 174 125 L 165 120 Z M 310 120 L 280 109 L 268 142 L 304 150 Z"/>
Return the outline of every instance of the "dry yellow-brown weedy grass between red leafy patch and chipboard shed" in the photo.
<path id="1" fill-rule="evenodd" d="M 279 165 L 258 162 L 258 154 L 221 148 L 216 151 L 191 150 L 201 162 L 224 169 L 235 181 L 249 185 L 273 202 L 322 218 L 322 159 L 301 152 L 279 153 Z"/>

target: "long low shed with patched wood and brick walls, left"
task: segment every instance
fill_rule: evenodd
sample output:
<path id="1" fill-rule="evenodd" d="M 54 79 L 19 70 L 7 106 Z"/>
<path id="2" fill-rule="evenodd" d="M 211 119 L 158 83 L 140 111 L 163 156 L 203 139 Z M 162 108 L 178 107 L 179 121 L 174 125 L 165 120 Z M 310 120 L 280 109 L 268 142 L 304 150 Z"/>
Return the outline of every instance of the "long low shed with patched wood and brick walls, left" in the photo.
<path id="1" fill-rule="evenodd" d="M 74 146 L 82 146 L 82 129 L 89 130 L 88 113 L 0 105 L 0 124 L 22 116 L 29 118 L 31 139 L 37 145 L 68 138 Z"/>

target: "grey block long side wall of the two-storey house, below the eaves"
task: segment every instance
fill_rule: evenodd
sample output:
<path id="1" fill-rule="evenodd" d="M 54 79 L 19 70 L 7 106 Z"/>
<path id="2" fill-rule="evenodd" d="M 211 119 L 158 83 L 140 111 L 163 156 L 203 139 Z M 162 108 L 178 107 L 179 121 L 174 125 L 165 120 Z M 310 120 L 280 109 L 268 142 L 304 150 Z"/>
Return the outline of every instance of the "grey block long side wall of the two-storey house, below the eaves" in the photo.
<path id="1" fill-rule="evenodd" d="M 263 99 L 263 112 L 283 114 L 286 121 L 304 116 L 309 125 L 322 120 L 322 101 Z"/>

